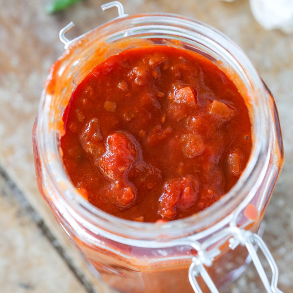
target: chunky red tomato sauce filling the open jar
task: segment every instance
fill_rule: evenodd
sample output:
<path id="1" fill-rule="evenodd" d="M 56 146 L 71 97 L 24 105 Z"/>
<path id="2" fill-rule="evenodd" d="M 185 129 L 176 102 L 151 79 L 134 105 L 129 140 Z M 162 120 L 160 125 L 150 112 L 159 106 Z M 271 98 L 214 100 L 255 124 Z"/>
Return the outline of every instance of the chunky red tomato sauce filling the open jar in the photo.
<path id="1" fill-rule="evenodd" d="M 199 212 L 228 192 L 251 152 L 248 110 L 199 54 L 128 49 L 96 66 L 64 112 L 67 173 L 96 207 L 155 222 Z"/>

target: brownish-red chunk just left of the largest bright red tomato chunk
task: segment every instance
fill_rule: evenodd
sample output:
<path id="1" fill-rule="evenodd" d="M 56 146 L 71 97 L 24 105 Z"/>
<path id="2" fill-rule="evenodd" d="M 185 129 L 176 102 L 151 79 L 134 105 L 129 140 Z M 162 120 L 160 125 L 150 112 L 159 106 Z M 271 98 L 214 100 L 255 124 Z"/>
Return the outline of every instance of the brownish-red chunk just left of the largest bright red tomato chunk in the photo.
<path id="1" fill-rule="evenodd" d="M 81 129 L 79 142 L 82 149 L 91 155 L 96 155 L 101 151 L 100 141 L 103 139 L 97 118 L 91 119 Z M 103 151 L 103 148 L 102 148 Z"/>

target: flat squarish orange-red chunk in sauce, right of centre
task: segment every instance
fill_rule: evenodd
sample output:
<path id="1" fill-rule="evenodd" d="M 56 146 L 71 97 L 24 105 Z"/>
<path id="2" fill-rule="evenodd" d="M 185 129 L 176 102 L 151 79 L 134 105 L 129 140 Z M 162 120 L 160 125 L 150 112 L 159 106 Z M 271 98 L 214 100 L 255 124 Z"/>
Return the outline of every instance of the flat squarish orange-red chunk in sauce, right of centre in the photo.
<path id="1" fill-rule="evenodd" d="M 205 149 L 202 138 L 199 134 L 183 134 L 181 141 L 183 154 L 187 158 L 192 159 L 195 156 L 199 156 Z"/>

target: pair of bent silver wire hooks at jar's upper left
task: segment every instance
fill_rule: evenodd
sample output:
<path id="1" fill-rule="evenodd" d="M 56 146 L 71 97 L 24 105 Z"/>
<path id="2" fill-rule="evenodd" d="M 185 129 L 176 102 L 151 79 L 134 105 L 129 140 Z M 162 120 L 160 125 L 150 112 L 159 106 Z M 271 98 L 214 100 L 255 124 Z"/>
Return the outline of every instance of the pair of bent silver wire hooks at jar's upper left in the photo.
<path id="1" fill-rule="evenodd" d="M 128 14 L 124 13 L 124 8 L 123 5 L 119 2 L 119 1 L 111 1 L 105 4 L 101 5 L 101 8 L 103 11 L 105 11 L 106 9 L 112 8 L 112 7 L 117 7 L 118 9 L 118 16 L 114 19 L 117 18 L 122 18 L 122 17 L 126 17 L 128 16 Z M 82 36 L 84 36 L 85 34 L 80 35 L 77 38 L 74 38 L 73 40 L 69 40 L 65 37 L 65 34 L 71 30 L 71 28 L 74 27 L 74 23 L 71 21 L 70 23 L 68 23 L 66 26 L 64 26 L 64 28 L 62 28 L 59 32 L 59 39 L 60 41 L 64 44 L 64 49 L 66 50 L 70 44 L 76 42 L 76 40 L 80 39 Z"/>

